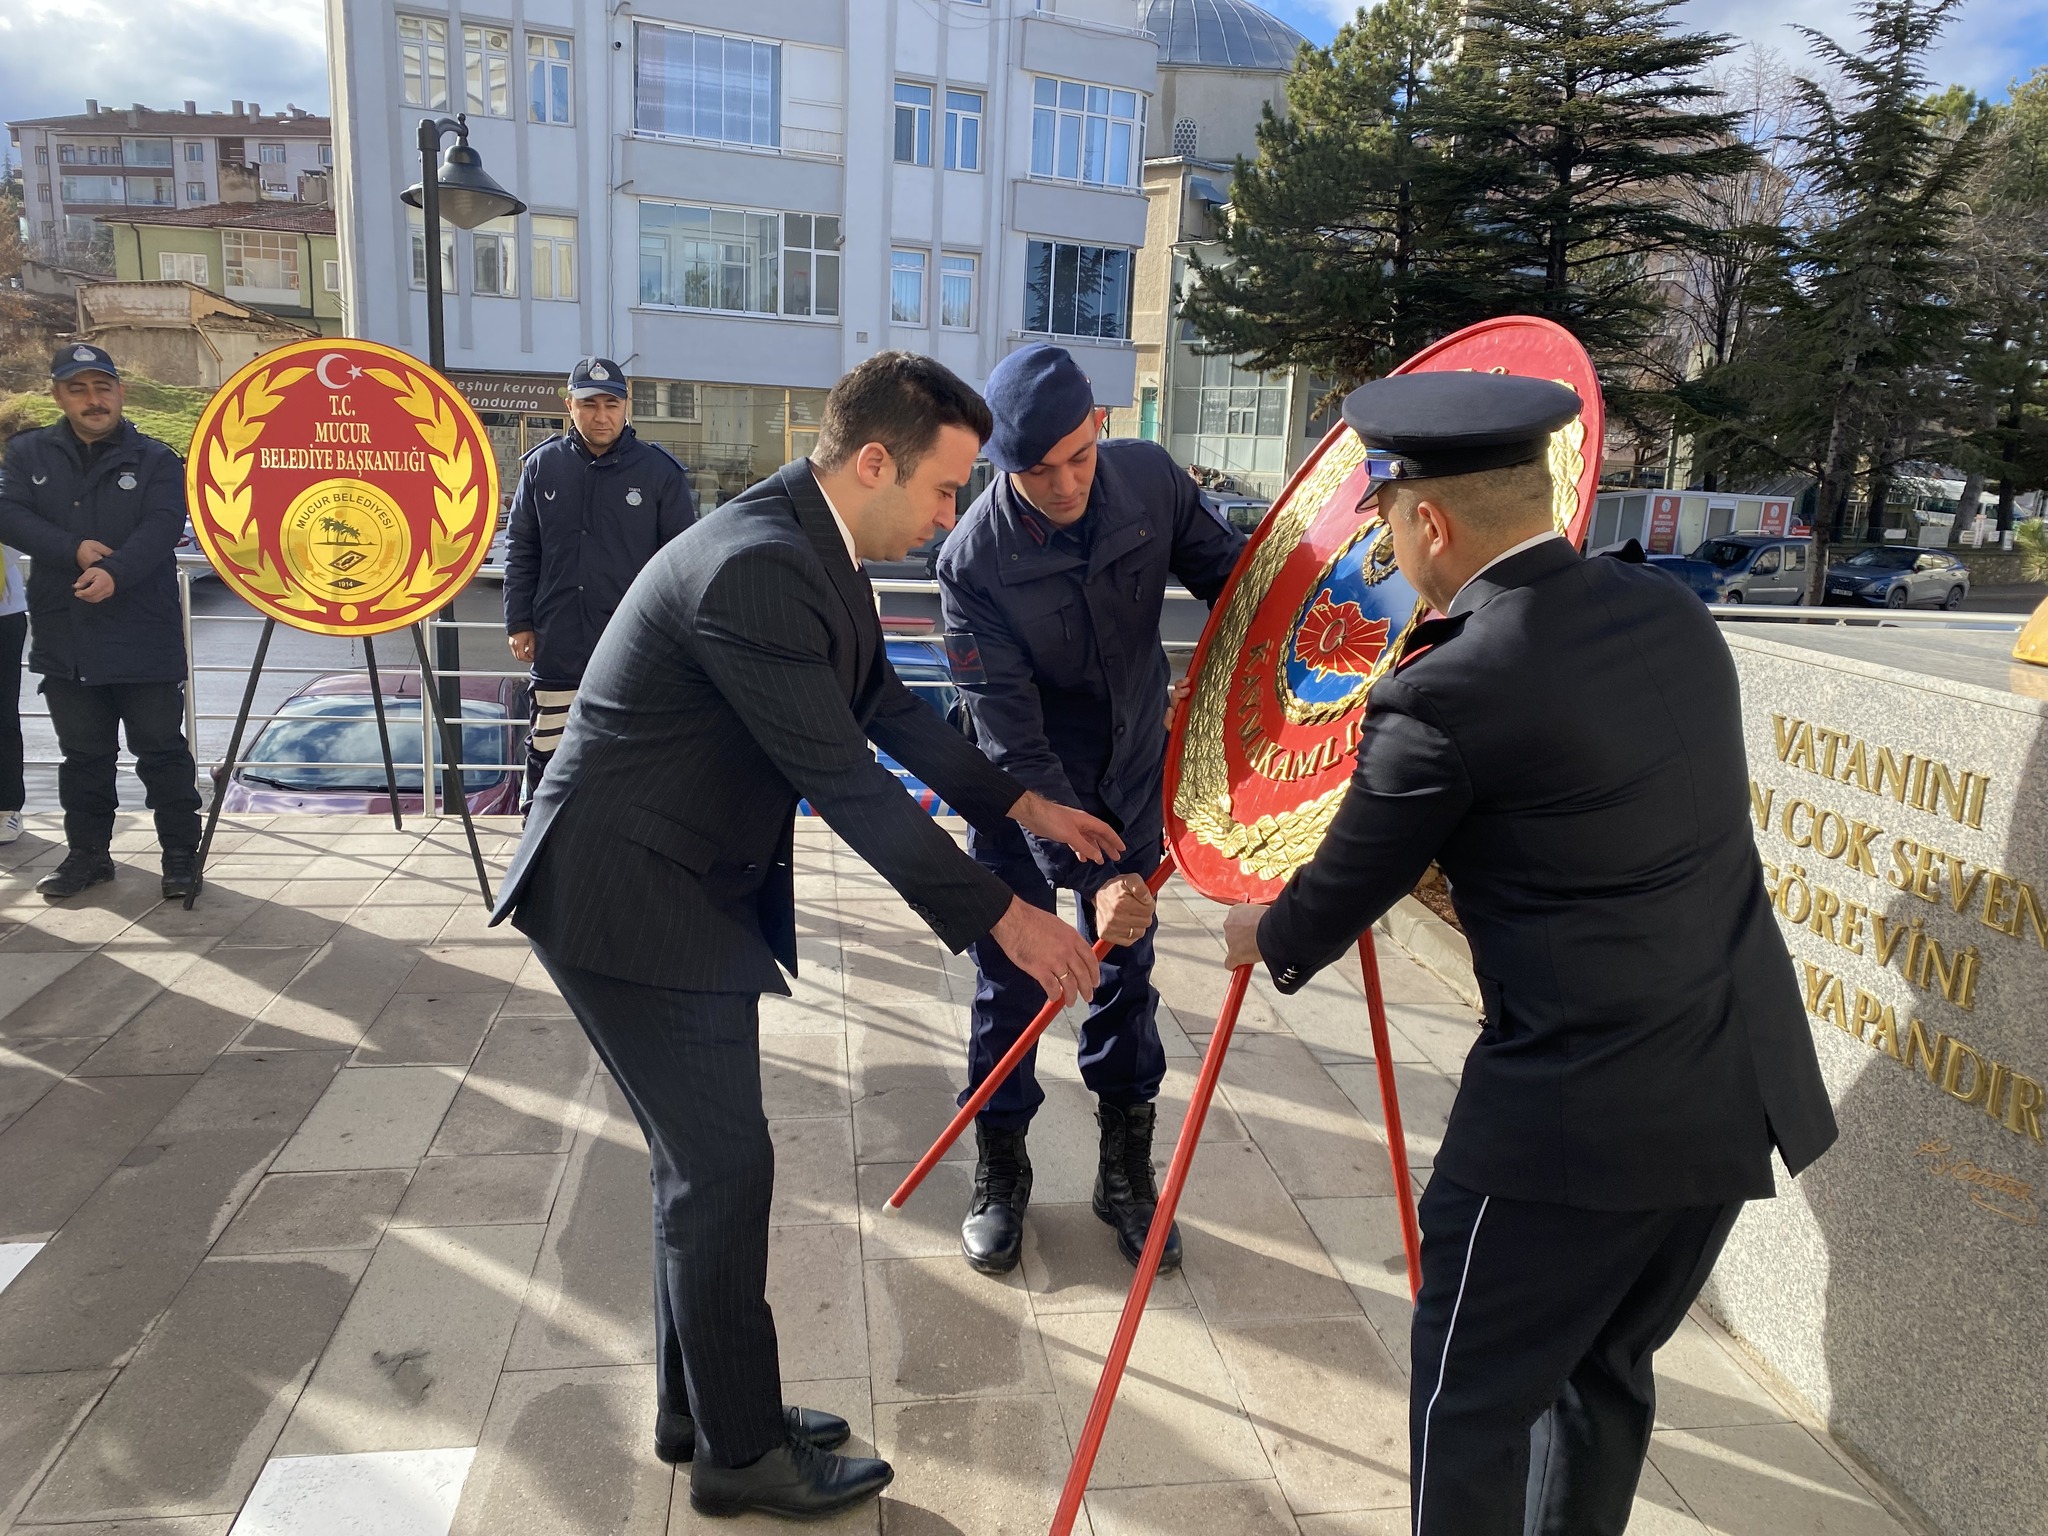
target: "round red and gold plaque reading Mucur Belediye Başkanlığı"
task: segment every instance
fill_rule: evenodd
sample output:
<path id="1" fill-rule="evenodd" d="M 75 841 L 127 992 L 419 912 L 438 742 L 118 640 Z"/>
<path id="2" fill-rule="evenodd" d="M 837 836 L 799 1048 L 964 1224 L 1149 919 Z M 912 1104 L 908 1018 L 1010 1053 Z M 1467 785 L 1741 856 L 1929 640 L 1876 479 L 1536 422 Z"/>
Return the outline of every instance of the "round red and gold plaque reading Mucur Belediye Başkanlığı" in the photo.
<path id="1" fill-rule="evenodd" d="M 207 406 L 184 477 L 221 580 L 322 635 L 383 635 L 444 606 L 498 512 L 469 401 L 375 342 L 293 342 L 250 362 Z"/>

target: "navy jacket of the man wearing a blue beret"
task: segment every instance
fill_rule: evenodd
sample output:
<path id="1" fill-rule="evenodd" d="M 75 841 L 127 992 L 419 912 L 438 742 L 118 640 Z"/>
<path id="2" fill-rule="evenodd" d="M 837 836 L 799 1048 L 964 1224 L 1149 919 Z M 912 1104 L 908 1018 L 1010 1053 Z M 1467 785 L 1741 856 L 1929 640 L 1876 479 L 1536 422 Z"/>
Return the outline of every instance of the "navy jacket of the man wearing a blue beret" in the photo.
<path id="1" fill-rule="evenodd" d="M 1124 844 L 1159 836 L 1165 690 L 1159 645 L 1167 578 L 1204 602 L 1223 592 L 1245 537 L 1221 522 L 1155 442 L 1096 446 L 1085 559 L 1008 475 L 975 500 L 938 557 L 946 664 L 989 758 L 1049 801 L 1112 815 Z M 1114 864 L 1030 838 L 1059 887 L 1094 891 Z"/>

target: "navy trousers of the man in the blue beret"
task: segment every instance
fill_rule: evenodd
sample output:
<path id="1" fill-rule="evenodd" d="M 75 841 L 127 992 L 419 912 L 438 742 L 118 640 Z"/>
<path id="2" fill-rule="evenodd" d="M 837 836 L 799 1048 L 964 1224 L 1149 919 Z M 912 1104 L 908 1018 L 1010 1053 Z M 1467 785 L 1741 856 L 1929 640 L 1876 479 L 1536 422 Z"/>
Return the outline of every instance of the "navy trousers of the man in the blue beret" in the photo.
<path id="1" fill-rule="evenodd" d="M 1159 838 L 1139 848 L 1126 848 L 1124 856 L 1116 860 L 1116 870 L 1151 874 L 1159 868 Z M 1059 911 L 1057 895 L 1030 856 L 1024 834 L 987 838 L 975 829 L 967 838 L 967 850 L 1034 907 Z M 1081 934 L 1094 942 L 1096 903 L 1081 897 L 1079 907 Z M 1087 1018 L 1081 1020 L 1081 1081 L 1110 1104 L 1149 1104 L 1159 1098 L 1159 1083 L 1165 1079 L 1165 1049 L 1159 1044 L 1159 993 L 1151 985 L 1157 928 L 1155 920 L 1135 944 L 1112 948 L 1102 958 L 1096 997 L 1087 1008 Z M 1020 971 L 993 938 L 975 940 L 969 944 L 969 952 L 975 956 L 975 1001 L 969 1010 L 967 1087 L 961 1090 L 961 1104 L 1016 1044 L 1032 1016 L 1044 1008 L 1044 987 Z M 1030 1124 L 1038 1106 L 1044 1104 L 1036 1065 L 1038 1051 L 1034 1047 L 981 1110 L 981 1124 L 991 1130 L 1022 1130 Z"/>

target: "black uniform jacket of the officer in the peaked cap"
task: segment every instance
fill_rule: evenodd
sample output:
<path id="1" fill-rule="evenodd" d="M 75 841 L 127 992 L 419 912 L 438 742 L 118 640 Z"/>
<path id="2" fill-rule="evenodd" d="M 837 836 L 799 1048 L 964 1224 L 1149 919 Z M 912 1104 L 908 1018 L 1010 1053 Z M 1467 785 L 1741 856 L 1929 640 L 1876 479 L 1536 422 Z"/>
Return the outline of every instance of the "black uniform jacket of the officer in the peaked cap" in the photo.
<path id="1" fill-rule="evenodd" d="M 1434 858 L 1485 1001 L 1436 1169 L 1602 1210 L 1772 1194 L 1835 1139 L 1749 831 L 1735 664 L 1661 571 L 1546 541 L 1380 678 L 1358 770 L 1260 924 L 1282 991 Z"/>

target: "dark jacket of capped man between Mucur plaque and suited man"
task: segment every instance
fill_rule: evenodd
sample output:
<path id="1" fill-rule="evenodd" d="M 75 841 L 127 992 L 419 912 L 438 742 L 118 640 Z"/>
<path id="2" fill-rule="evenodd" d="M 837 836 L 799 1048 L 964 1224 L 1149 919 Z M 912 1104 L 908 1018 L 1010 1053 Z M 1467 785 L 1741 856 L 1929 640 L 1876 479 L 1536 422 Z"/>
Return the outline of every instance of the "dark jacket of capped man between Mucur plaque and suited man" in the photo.
<path id="1" fill-rule="evenodd" d="M 512 492 L 506 633 L 535 631 L 537 682 L 575 686 L 633 578 L 692 522 L 682 465 L 631 426 L 598 455 L 575 432 L 526 455 Z"/>

